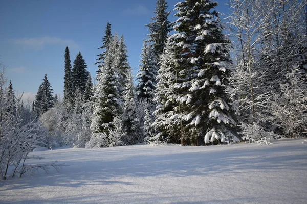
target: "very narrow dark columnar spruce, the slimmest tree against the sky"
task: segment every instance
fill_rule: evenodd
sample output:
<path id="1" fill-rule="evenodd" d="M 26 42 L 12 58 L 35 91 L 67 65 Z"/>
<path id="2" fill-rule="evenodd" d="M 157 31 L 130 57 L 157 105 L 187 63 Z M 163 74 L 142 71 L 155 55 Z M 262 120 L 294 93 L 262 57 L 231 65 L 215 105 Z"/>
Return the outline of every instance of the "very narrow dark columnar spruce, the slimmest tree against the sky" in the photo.
<path id="1" fill-rule="evenodd" d="M 72 65 L 70 60 L 70 54 L 68 47 L 65 48 L 65 54 L 64 54 L 64 62 L 65 62 L 65 74 L 64 74 L 64 104 L 67 105 L 67 111 L 68 107 L 71 107 L 71 103 L 73 100 L 73 83 L 72 83 Z"/>

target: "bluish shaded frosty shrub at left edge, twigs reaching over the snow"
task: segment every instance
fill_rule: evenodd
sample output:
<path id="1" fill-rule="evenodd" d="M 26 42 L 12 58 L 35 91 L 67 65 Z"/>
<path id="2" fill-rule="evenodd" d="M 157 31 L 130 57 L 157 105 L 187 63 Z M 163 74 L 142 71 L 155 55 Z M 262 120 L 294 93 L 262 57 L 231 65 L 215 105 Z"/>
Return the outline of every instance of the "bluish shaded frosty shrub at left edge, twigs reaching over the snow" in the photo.
<path id="1" fill-rule="evenodd" d="M 21 177 L 25 173 L 31 175 L 34 169 L 48 169 L 48 165 L 56 169 L 60 165 L 27 165 L 27 159 L 43 159 L 29 157 L 29 152 L 35 147 L 45 145 L 46 129 L 39 121 L 33 120 L 27 124 L 23 122 L 21 97 L 8 96 L 8 89 L 4 87 L 6 78 L 0 72 L 0 177 Z M 14 108 L 15 107 L 15 108 Z M 47 171 L 46 171 L 47 172 Z"/>

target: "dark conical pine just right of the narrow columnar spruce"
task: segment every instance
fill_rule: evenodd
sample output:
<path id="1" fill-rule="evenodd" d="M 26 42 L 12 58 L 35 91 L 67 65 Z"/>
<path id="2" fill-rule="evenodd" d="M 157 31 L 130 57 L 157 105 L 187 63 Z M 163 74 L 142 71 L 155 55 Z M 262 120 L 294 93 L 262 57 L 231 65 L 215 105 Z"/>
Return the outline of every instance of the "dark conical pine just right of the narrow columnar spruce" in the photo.
<path id="1" fill-rule="evenodd" d="M 81 52 L 79 52 L 74 60 L 73 70 L 72 70 L 72 84 L 74 91 L 80 89 L 83 94 L 86 86 L 87 77 L 89 72 L 86 70 L 87 65 Z"/>

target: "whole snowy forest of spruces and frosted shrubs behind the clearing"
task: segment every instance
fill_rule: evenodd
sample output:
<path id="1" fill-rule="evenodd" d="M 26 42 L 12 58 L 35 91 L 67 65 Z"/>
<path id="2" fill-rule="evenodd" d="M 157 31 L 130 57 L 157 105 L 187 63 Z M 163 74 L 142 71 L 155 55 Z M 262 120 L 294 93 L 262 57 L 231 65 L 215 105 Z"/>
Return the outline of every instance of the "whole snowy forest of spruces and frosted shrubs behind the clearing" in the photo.
<path id="1" fill-rule="evenodd" d="M 35 147 L 270 144 L 307 136 L 307 5 L 303 0 L 157 0 L 133 75 L 124 35 L 107 23 L 96 76 L 63 47 L 63 98 L 47 75 L 25 103 L 0 72 L 0 174 L 31 173 Z M 170 22 L 170 10 L 177 20 Z M 61 164 L 47 166 L 59 168 Z M 9 169 L 13 168 L 10 173 Z"/>

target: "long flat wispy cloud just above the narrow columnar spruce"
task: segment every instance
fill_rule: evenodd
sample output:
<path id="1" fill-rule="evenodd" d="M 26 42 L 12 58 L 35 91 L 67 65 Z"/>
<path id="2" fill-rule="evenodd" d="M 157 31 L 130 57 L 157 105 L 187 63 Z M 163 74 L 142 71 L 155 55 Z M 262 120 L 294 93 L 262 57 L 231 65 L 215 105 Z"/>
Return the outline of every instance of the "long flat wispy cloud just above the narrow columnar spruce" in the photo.
<path id="1" fill-rule="evenodd" d="M 13 42 L 18 45 L 24 45 L 31 48 L 42 49 L 47 44 L 59 44 L 69 47 L 78 48 L 78 45 L 73 40 L 61 39 L 58 37 L 38 37 L 38 38 L 20 38 L 13 39 Z"/>

